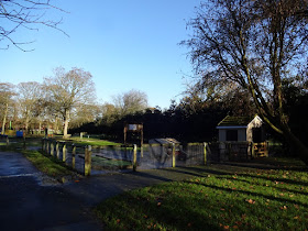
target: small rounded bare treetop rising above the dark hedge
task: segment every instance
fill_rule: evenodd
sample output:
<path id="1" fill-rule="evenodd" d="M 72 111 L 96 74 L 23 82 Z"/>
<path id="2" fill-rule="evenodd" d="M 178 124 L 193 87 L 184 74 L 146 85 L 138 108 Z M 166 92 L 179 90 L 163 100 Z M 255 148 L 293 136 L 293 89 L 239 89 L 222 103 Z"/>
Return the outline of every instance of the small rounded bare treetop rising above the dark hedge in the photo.
<path id="1" fill-rule="evenodd" d="M 147 107 L 147 95 L 140 90 L 130 90 L 128 92 L 113 96 L 113 102 L 118 116 L 124 117 L 142 111 Z"/>

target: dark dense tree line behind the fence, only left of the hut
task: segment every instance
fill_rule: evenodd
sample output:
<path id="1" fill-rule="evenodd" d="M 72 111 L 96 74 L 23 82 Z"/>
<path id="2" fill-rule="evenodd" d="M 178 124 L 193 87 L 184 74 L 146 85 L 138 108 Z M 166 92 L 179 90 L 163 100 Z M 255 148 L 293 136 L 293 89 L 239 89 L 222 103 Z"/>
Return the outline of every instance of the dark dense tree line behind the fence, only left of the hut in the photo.
<path id="1" fill-rule="evenodd" d="M 133 91 L 128 92 L 132 94 Z M 216 127 L 227 114 L 255 114 L 251 99 L 248 96 L 240 98 L 240 95 L 243 97 L 244 94 L 237 91 L 205 96 L 194 85 L 187 87 L 179 102 L 173 100 L 165 110 L 158 106 L 143 107 L 143 110 L 131 110 L 120 114 L 114 105 L 107 103 L 103 106 L 102 118 L 72 129 L 70 132 L 103 134 L 105 138 L 123 141 L 125 123 L 143 123 L 145 140 L 175 138 L 184 142 L 213 141 L 218 139 Z M 122 101 L 127 101 L 123 96 Z"/>

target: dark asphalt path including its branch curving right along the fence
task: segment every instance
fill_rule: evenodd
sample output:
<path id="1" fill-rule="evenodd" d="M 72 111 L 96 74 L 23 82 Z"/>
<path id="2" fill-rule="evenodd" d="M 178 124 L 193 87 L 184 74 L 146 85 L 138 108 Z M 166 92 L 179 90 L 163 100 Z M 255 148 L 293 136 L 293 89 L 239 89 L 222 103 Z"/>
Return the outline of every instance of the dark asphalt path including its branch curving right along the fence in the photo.
<path id="1" fill-rule="evenodd" d="M 143 170 L 55 185 L 22 154 L 0 152 L 0 230 L 102 230 L 91 208 L 103 199 L 196 175 L 188 169 Z"/>

